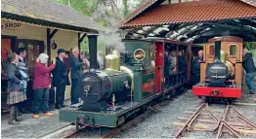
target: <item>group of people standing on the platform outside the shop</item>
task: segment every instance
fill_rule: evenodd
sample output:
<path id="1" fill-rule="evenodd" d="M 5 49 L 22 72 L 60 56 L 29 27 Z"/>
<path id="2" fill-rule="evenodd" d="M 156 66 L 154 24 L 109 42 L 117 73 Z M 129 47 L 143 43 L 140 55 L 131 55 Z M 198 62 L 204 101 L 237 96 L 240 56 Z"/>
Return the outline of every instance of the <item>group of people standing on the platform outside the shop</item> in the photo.
<path id="1" fill-rule="evenodd" d="M 71 105 L 79 103 L 79 96 L 76 91 L 77 82 L 82 72 L 90 68 L 88 54 L 83 52 L 79 56 L 78 48 L 72 49 L 70 55 L 70 69 L 68 68 L 64 58 L 66 52 L 64 49 L 58 50 L 58 56 L 49 63 L 49 55 L 40 53 L 34 64 L 33 71 L 33 105 L 32 113 L 34 119 L 39 119 L 39 109 L 42 109 L 43 115 L 47 117 L 53 116 L 49 112 L 49 89 L 56 87 L 55 108 L 62 109 L 64 105 L 65 87 L 70 85 L 68 74 L 70 71 L 71 78 Z M 102 53 L 98 53 L 99 69 L 104 68 L 104 59 Z M 18 52 L 9 52 L 7 56 L 7 104 L 11 106 L 9 124 L 20 124 L 22 103 L 26 100 L 26 86 L 29 81 L 28 67 L 26 64 L 26 52 L 24 48 L 20 48 Z M 53 80 L 51 78 L 53 76 Z"/>

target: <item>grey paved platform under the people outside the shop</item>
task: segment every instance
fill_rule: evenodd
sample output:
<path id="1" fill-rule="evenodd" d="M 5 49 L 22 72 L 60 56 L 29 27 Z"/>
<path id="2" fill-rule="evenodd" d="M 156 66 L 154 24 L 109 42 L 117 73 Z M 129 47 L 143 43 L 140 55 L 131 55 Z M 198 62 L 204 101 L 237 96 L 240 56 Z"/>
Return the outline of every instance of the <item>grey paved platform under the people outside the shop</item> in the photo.
<path id="1" fill-rule="evenodd" d="M 66 103 L 70 104 L 70 103 Z M 33 119 L 32 114 L 23 114 L 19 125 L 8 124 L 9 115 L 1 118 L 1 138 L 45 138 L 54 132 L 58 132 L 70 125 L 69 122 L 59 121 L 59 110 L 51 111 L 52 117 L 40 114 L 39 119 Z M 51 136 L 52 138 L 52 136 Z"/>

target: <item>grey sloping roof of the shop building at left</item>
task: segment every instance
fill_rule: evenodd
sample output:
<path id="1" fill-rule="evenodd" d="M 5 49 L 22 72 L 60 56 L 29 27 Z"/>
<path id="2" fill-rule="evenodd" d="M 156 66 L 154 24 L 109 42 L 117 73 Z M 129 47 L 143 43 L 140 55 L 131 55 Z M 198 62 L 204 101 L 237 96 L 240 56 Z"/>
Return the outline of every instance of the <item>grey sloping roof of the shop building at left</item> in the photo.
<path id="1" fill-rule="evenodd" d="M 76 12 L 73 8 L 48 0 L 1 0 L 1 2 L 1 18 L 88 33 L 107 30 L 100 23 Z"/>

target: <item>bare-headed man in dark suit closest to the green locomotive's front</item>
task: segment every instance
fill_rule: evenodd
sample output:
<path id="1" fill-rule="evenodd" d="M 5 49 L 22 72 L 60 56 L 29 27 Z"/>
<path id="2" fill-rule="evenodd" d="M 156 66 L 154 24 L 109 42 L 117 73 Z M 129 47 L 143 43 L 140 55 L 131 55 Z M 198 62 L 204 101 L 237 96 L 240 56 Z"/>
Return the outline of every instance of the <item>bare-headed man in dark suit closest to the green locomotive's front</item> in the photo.
<path id="1" fill-rule="evenodd" d="M 78 58 L 78 48 L 72 49 L 71 55 L 71 105 L 79 103 L 79 96 L 76 91 L 78 79 L 81 76 L 83 61 Z"/>

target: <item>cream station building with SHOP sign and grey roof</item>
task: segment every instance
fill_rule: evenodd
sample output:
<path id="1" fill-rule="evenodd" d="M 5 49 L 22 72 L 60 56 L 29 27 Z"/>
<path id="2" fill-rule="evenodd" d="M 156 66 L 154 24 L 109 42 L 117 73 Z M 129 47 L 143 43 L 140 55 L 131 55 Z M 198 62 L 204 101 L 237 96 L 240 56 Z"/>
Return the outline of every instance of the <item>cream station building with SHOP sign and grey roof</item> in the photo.
<path id="1" fill-rule="evenodd" d="M 25 48 L 30 75 L 27 97 L 30 99 L 33 65 L 39 53 L 45 52 L 49 59 L 53 59 L 58 49 L 62 48 L 70 55 L 71 49 L 80 48 L 80 43 L 88 34 L 98 34 L 105 30 L 98 22 L 68 6 L 47 0 L 2 0 L 1 59 L 4 61 L 8 52 Z M 68 58 L 65 61 L 68 63 Z M 2 83 L 5 82 L 3 80 Z M 2 91 L 4 105 L 5 96 L 5 91 Z M 70 86 L 67 86 L 65 99 L 69 97 Z"/>

